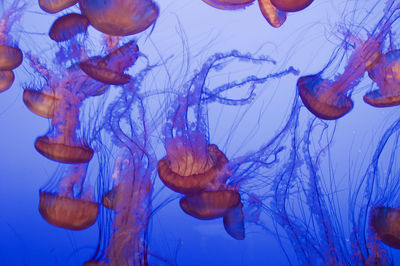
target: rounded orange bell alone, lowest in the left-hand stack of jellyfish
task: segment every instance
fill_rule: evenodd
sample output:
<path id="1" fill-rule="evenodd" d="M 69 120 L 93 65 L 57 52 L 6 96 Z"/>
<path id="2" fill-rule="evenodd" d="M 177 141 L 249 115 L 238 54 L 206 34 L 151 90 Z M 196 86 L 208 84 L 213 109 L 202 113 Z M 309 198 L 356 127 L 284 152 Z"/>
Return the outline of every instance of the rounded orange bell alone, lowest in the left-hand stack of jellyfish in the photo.
<path id="1" fill-rule="evenodd" d="M 96 222 L 96 202 L 48 192 L 40 192 L 39 197 L 39 212 L 52 225 L 70 230 L 83 230 Z"/>

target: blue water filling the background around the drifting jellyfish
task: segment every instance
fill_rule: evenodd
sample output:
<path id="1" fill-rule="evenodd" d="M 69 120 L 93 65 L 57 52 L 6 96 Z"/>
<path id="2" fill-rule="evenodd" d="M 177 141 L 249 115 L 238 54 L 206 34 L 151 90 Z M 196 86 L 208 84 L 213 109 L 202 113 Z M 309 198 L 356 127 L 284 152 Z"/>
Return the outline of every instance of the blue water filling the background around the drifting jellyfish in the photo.
<path id="1" fill-rule="evenodd" d="M 2 3 L 7 6 L 10 1 Z M 382 1 L 334 2 L 315 0 L 305 10 L 289 13 L 284 25 L 277 29 L 265 21 L 257 2 L 238 11 L 218 10 L 201 0 L 157 3 L 160 17 L 156 24 L 135 36 L 140 51 L 148 59 L 139 60 L 137 68 L 143 68 L 147 62 L 156 65 L 141 90 L 147 93 L 143 95 L 152 95 L 146 102 L 146 110 L 151 114 L 150 126 L 156 128 L 151 133 L 151 141 L 157 159 L 165 156 L 161 126 L 165 123 L 163 114 L 174 100 L 173 93 L 162 92 L 179 91 L 192 73 L 215 53 L 238 50 L 246 57 L 265 56 L 276 63 L 226 61 L 221 71 L 209 74 L 205 83 L 208 88 L 245 80 L 251 75 L 265 77 L 289 67 L 298 70 L 298 75 L 295 71 L 285 72 L 279 78 L 254 83 L 255 98 L 247 104 L 214 102 L 207 105 L 209 140 L 217 144 L 228 159 L 249 154 L 252 159 L 256 155 L 266 156 L 267 151 L 256 152 L 277 139 L 280 132 L 286 134 L 280 144 L 272 148 L 271 154 L 277 154 L 276 160 L 274 156 L 264 157 L 262 160 L 267 167 L 243 172 L 242 176 L 234 175 L 230 181 L 239 187 L 243 199 L 245 239 L 230 237 L 221 218 L 204 221 L 185 214 L 179 207 L 180 195 L 165 188 L 154 171 L 151 202 L 157 211 L 152 213 L 148 224 L 150 264 L 330 264 L 335 260 L 329 256 L 349 264 L 361 263 L 356 262 L 350 242 L 354 224 L 366 230 L 365 236 L 370 234 L 368 222 L 363 224 L 357 220 L 360 213 L 363 215 L 366 201 L 371 199 L 372 205 L 399 205 L 396 186 L 399 133 L 387 131 L 398 120 L 399 109 L 374 108 L 364 103 L 364 93 L 376 87 L 367 75 L 352 90 L 354 108 L 337 121 L 313 120 L 314 116 L 301 102 L 294 103 L 298 77 L 321 71 L 331 60 L 333 64 L 325 78 L 333 79 L 342 73 L 352 51 L 351 45 L 346 46 L 343 41 L 348 31 L 365 39 L 366 31 L 371 32 L 384 13 Z M 79 12 L 79 8 L 75 6 L 69 11 Z M 36 2 L 29 3 L 9 34 L 22 51 L 50 64 L 59 46 L 47 33 L 58 16 L 46 14 Z M 391 30 L 393 36 L 399 34 L 398 22 L 393 23 Z M 89 27 L 87 37 L 85 45 L 90 55 L 104 52 L 101 36 L 94 28 Z M 393 38 L 393 46 L 398 48 L 399 45 Z M 387 50 L 389 42 L 385 41 L 383 46 Z M 333 58 L 336 49 L 344 56 Z M 53 70 L 63 71 L 62 67 Z M 81 265 L 95 253 L 99 231 L 104 232 L 107 225 L 96 223 L 89 229 L 69 231 L 48 224 L 39 214 L 39 190 L 55 176 L 60 164 L 48 160 L 34 148 L 35 139 L 48 131 L 50 120 L 33 114 L 22 102 L 23 89 L 40 88 L 43 80 L 26 60 L 14 73 L 13 86 L 0 94 L 0 265 Z M 138 71 L 133 67 L 129 73 L 134 75 Z M 233 99 L 246 97 L 250 85 L 234 88 L 223 95 Z M 120 93 L 121 88 L 113 86 L 105 96 L 99 96 L 99 99 L 104 97 L 104 105 L 100 104 L 101 100 L 91 102 L 98 108 L 91 113 L 92 121 L 93 116 L 104 117 L 107 104 Z M 290 117 L 291 112 L 299 115 L 297 123 Z M 81 127 L 90 130 L 91 119 L 84 120 Z M 288 121 L 292 124 L 285 128 Z M 306 141 L 308 133 L 310 146 Z M 391 137 L 383 147 L 385 133 Z M 106 138 L 104 145 L 113 147 L 114 144 Z M 311 153 L 309 157 L 307 148 Z M 379 162 L 374 165 L 373 160 L 381 150 Z M 104 150 L 95 152 L 100 154 Z M 299 157 L 293 158 L 293 153 Z M 93 191 L 100 186 L 96 181 L 98 164 L 94 159 L 88 171 Z M 113 164 L 110 167 L 113 168 Z M 378 168 L 379 174 L 373 171 Z M 289 174 L 289 169 L 295 169 L 294 173 Z M 102 178 L 111 184 L 113 169 L 107 173 L 109 175 Z M 313 178 L 314 174 L 317 178 Z M 369 185 L 374 177 L 375 183 Z M 278 193 L 284 187 L 283 182 L 288 182 L 287 190 Z M 313 182 L 317 185 L 313 186 Z M 318 193 L 313 190 L 316 187 Z M 109 187 L 101 189 L 105 192 Z M 262 205 L 258 208 L 251 205 L 254 201 L 250 196 Z M 95 197 L 98 199 L 100 195 L 96 192 Z M 279 209 L 283 199 L 286 200 L 285 211 Z M 317 201 L 322 203 L 318 205 Z M 283 213 L 290 218 L 292 227 L 282 220 Z M 331 231 L 324 233 L 322 222 L 330 224 Z M 331 240 L 334 243 L 328 243 Z M 365 247 L 363 243 L 364 254 L 370 254 L 365 252 Z M 332 255 L 332 250 L 336 255 Z M 396 249 L 382 244 L 379 252 L 393 257 L 395 263 L 399 261 Z"/>

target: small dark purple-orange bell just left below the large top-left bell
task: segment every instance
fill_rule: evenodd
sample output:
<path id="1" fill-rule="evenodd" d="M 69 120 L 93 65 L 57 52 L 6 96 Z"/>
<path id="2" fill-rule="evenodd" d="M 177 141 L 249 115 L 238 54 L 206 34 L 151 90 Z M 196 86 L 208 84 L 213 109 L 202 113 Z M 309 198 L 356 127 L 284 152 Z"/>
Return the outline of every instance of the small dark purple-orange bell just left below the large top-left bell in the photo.
<path id="1" fill-rule="evenodd" d="M 49 36 L 56 42 L 62 42 L 73 38 L 79 33 L 86 32 L 89 20 L 76 13 L 66 14 L 59 17 L 51 25 Z"/>

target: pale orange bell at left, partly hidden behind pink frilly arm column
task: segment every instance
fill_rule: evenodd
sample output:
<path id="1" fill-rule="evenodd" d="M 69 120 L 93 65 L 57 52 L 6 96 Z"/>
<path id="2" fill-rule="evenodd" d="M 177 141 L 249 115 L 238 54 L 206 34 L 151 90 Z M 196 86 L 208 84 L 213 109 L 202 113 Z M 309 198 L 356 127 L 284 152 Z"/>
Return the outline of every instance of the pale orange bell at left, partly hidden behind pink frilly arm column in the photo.
<path id="1" fill-rule="evenodd" d="M 44 118 L 53 118 L 54 109 L 60 99 L 57 95 L 37 91 L 32 89 L 24 89 L 23 101 L 28 109 Z"/>

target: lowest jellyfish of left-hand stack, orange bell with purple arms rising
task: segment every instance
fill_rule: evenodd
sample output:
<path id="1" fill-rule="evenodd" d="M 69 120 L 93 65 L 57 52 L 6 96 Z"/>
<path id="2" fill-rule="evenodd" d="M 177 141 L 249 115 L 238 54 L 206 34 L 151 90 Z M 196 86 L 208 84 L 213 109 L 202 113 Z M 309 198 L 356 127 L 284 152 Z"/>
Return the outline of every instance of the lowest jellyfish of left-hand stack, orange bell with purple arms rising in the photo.
<path id="1" fill-rule="evenodd" d="M 83 230 L 92 226 L 97 219 L 98 204 L 93 193 L 84 191 L 87 164 L 72 166 L 57 185 L 58 192 L 39 192 L 39 212 L 50 224 L 70 229 Z"/>

